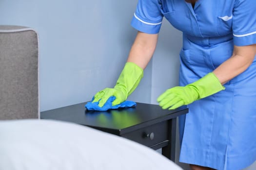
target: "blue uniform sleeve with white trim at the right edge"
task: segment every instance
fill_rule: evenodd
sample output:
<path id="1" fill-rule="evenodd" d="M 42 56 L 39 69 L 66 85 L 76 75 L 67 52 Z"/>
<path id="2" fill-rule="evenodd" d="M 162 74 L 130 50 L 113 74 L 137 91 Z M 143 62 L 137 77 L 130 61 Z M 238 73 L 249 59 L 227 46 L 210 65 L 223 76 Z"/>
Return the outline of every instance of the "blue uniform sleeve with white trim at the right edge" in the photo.
<path id="1" fill-rule="evenodd" d="M 234 45 L 256 44 L 256 0 L 235 0 L 232 27 Z"/>

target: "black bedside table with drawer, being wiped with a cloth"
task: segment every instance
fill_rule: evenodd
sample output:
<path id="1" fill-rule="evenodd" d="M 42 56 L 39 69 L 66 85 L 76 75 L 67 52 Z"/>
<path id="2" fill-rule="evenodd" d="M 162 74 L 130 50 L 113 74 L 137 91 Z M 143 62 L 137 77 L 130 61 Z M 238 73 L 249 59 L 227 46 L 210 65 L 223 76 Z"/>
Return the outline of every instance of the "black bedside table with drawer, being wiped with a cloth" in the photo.
<path id="1" fill-rule="evenodd" d="M 155 104 L 137 102 L 132 108 L 87 112 L 85 104 L 44 111 L 40 118 L 73 122 L 125 137 L 155 150 L 162 148 L 162 154 L 175 161 L 176 118 L 188 113 L 186 107 L 169 111 Z"/>

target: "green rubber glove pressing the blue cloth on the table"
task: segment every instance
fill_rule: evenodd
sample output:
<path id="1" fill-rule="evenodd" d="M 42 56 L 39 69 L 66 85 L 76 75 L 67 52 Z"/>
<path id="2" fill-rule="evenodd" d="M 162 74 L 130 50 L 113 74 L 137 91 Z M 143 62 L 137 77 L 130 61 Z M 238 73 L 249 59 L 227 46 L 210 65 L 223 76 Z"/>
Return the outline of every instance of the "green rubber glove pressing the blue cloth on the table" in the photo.
<path id="1" fill-rule="evenodd" d="M 113 106 L 124 102 L 127 97 L 136 89 L 142 77 L 143 69 L 138 67 L 135 63 L 127 62 L 118 78 L 115 87 L 105 88 L 99 91 L 94 96 L 93 102 L 99 101 L 98 106 L 102 107 L 111 96 L 116 97 L 116 100 L 112 102 Z"/>

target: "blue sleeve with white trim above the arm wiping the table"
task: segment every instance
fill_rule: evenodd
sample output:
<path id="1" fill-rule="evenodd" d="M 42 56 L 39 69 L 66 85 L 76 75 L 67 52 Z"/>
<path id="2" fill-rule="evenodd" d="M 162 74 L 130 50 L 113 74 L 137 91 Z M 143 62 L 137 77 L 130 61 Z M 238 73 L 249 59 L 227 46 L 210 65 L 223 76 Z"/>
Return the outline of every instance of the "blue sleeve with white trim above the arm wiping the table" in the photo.
<path id="1" fill-rule="evenodd" d="M 160 0 L 138 0 L 131 25 L 140 32 L 158 34 L 162 24 Z"/>

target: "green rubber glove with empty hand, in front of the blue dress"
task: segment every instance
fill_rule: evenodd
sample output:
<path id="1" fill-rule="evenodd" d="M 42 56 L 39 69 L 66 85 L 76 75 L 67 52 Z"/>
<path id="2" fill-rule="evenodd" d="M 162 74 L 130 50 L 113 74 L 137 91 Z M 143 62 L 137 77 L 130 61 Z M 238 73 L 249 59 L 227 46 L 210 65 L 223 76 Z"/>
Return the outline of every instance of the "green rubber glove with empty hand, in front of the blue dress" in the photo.
<path id="1" fill-rule="evenodd" d="M 186 86 L 176 86 L 166 90 L 158 97 L 162 109 L 176 109 L 182 105 L 190 104 L 196 100 L 213 95 L 225 87 L 220 84 L 214 73 L 208 73 L 196 82 Z"/>

